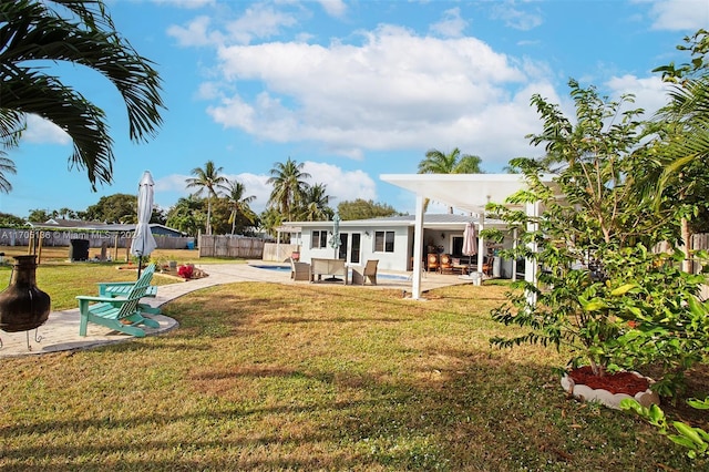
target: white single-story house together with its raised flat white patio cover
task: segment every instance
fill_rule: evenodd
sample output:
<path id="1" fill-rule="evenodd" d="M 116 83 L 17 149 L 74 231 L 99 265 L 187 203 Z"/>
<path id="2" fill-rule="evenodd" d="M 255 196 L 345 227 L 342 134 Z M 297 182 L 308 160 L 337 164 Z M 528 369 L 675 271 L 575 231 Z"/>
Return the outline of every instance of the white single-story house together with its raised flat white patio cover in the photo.
<path id="1" fill-rule="evenodd" d="M 527 188 L 523 175 L 520 174 L 384 174 L 380 178 L 389 184 L 408 189 L 415 195 L 415 212 L 413 225 L 411 217 L 394 219 L 382 219 L 381 226 L 372 226 L 376 219 L 360 222 L 341 222 L 340 233 L 347 236 L 347 244 L 341 244 L 336 250 L 329 239 L 329 232 L 332 232 L 332 222 L 317 222 L 307 224 L 298 222 L 302 228 L 301 258 L 309 260 L 312 257 L 347 259 L 350 264 L 366 264 L 368 258 L 378 258 L 383 269 L 412 270 L 411 297 L 421 298 L 421 277 L 424 267 L 427 238 L 432 237 L 434 244 L 443 245 L 454 252 L 458 237 L 462 237 L 464 224 L 472 216 L 463 217 L 463 222 L 456 224 L 448 220 L 434 223 L 431 217 L 423 214 L 423 202 L 425 198 L 452 206 L 469 215 L 479 215 L 477 233 L 489 225 L 501 222 L 485 220 L 485 206 L 489 203 L 505 203 L 506 198 L 514 193 Z M 544 183 L 551 183 L 551 176 L 542 176 Z M 527 203 L 524 209 L 528 216 L 538 216 L 542 212 L 541 203 Z M 449 225 L 445 227 L 444 225 Z M 436 230 L 440 238 L 436 242 Z M 514 244 L 516 235 L 508 236 L 503 243 Z M 342 238 L 340 238 L 342 242 Z M 535 250 L 535 247 L 531 247 Z M 485 254 L 487 247 L 483 238 L 479 237 L 477 254 Z M 477 260 L 477 271 L 482 271 L 483 260 Z M 516 274 L 516 264 L 512 261 L 511 274 Z M 504 267 L 504 265 L 503 265 Z M 524 278 L 527 281 L 536 280 L 536 265 L 525 264 Z M 504 270 L 501 267 L 501 273 Z M 502 274 L 501 274 L 502 275 Z"/>

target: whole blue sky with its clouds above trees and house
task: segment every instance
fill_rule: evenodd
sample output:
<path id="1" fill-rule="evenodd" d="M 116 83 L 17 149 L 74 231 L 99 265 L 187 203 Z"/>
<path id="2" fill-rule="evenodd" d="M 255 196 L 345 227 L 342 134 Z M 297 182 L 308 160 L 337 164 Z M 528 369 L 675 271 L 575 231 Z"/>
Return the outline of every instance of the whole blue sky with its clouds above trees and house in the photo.
<path id="1" fill-rule="evenodd" d="M 0 212 L 84 211 L 137 193 L 143 171 L 164 208 L 214 161 L 264 209 L 268 172 L 288 157 L 323 183 L 332 206 L 354 198 L 413 212 L 412 194 L 379 175 L 413 174 L 427 150 L 479 155 L 485 172 L 538 156 L 537 93 L 573 114 L 569 78 L 612 98 L 665 103 L 658 65 L 684 62 L 686 35 L 709 27 L 707 0 L 236 1 L 109 0 L 121 33 L 155 62 L 167 111 L 156 138 L 127 138 L 125 110 L 102 76 L 52 72 L 109 115 L 114 182 L 91 191 L 69 168 L 69 137 L 31 117 L 10 152 L 13 191 Z M 435 211 L 435 206 L 432 207 Z"/>

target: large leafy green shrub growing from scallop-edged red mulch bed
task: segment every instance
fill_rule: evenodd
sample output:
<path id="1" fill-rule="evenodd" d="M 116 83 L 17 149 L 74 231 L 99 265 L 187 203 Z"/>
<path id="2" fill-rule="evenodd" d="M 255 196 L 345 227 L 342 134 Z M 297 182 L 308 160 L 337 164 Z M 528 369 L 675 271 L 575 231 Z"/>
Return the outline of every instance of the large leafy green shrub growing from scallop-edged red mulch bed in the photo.
<path id="1" fill-rule="evenodd" d="M 681 273 L 679 252 L 648 249 L 659 242 L 678 245 L 681 205 L 653 205 L 644 192 L 655 147 L 640 142 L 639 111 L 620 110 L 629 98 L 608 102 L 594 88 L 569 85 L 575 123 L 535 95 L 544 131 L 530 137 L 532 144 L 545 144 L 546 155 L 512 161 L 528 188 L 487 207 L 522 242 L 502 256 L 525 258 L 527 267 L 540 269 L 533 283 L 521 283 L 522 290 L 512 290 L 492 312 L 527 332 L 491 342 L 568 348 L 571 359 L 561 370 L 572 376 L 585 366 L 599 379 L 660 360 L 668 373 L 664 392 L 672 393 L 678 373 L 698 359 L 708 339 L 698 322 L 706 307 L 696 297 L 703 276 Z M 551 185 L 540 178 L 548 173 Z M 537 205 L 540 212 L 527 216 L 510 204 Z M 485 236 L 501 237 L 494 230 Z M 697 325 L 701 328 L 692 328 Z M 687 342 L 678 339 L 689 331 Z"/>

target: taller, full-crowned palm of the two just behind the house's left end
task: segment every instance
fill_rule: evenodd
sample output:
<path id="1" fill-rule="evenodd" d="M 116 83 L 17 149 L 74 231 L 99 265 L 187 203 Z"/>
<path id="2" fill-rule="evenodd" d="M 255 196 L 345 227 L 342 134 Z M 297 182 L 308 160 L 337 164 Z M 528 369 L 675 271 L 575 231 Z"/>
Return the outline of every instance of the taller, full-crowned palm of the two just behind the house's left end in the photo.
<path id="1" fill-rule="evenodd" d="M 277 162 L 269 171 L 270 177 L 266 181 L 274 189 L 268 198 L 268 205 L 274 206 L 286 220 L 294 220 L 295 211 L 300 206 L 308 188 L 306 178 L 310 174 L 302 172 L 304 163 L 296 163 L 290 157 L 285 163 Z"/>

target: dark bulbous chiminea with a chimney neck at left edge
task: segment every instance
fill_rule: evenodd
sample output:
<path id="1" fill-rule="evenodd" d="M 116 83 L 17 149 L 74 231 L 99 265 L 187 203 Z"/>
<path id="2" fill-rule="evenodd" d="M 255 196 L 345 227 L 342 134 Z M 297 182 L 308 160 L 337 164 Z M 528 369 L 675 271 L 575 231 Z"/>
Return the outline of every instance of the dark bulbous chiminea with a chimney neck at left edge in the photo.
<path id="1" fill-rule="evenodd" d="M 0 293 L 0 329 L 29 331 L 49 318 L 51 300 L 37 287 L 37 256 L 13 256 L 12 279 Z"/>

